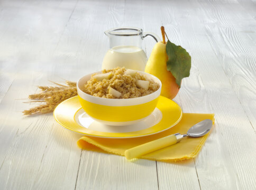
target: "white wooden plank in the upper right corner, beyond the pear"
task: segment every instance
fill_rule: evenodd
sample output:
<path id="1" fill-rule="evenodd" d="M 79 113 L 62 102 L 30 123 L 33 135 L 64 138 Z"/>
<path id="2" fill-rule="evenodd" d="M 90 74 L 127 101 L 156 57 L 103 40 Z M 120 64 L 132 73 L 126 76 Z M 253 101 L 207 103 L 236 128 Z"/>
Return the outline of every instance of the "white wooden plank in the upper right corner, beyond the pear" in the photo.
<path id="1" fill-rule="evenodd" d="M 220 27 L 216 29 L 206 24 L 206 35 L 256 131 L 256 36 L 251 30 L 256 27 L 256 21 L 237 4 L 227 4 L 225 9 L 218 4 L 213 7 L 218 10 L 215 15 Z M 235 11 L 225 11 L 227 7 Z"/>

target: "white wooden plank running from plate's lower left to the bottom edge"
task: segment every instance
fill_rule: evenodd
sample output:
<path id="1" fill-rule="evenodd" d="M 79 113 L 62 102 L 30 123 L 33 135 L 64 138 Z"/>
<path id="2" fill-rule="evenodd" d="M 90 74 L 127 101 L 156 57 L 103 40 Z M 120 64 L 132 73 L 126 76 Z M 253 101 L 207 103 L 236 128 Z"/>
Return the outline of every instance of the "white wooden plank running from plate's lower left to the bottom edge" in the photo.
<path id="1" fill-rule="evenodd" d="M 76 141 L 80 137 L 54 122 L 32 189 L 75 189 L 81 155 Z"/>

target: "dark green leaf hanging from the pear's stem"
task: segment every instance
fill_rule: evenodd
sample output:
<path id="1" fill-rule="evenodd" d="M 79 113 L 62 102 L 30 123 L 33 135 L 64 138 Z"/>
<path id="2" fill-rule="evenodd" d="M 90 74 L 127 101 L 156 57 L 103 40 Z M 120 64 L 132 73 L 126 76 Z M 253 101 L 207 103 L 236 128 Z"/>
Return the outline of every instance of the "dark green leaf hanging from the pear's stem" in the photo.
<path id="1" fill-rule="evenodd" d="M 166 44 L 166 53 L 168 55 L 167 70 L 171 72 L 176 79 L 176 83 L 179 88 L 181 86 L 181 80 L 185 77 L 189 77 L 191 68 L 191 56 L 180 45 L 175 45 L 169 40 Z"/>

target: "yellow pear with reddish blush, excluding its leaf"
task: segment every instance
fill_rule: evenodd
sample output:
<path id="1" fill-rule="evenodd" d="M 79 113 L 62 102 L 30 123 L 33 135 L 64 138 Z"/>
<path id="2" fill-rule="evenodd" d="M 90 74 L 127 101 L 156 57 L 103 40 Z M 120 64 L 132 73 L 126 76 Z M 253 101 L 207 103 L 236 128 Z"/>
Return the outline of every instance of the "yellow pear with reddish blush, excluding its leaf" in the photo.
<path id="1" fill-rule="evenodd" d="M 168 55 L 166 44 L 158 42 L 154 45 L 149 60 L 145 67 L 145 72 L 153 74 L 162 82 L 161 96 L 173 99 L 179 92 L 179 86 L 175 77 L 167 70 Z"/>

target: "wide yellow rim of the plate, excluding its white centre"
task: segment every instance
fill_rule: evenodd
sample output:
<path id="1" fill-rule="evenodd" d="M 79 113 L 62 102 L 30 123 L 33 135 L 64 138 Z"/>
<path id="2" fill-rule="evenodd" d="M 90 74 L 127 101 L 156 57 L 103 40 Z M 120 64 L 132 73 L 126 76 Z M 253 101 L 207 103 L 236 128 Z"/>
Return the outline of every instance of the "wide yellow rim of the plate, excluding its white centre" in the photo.
<path id="1" fill-rule="evenodd" d="M 143 130 L 132 132 L 103 132 L 85 128 L 79 125 L 76 121 L 76 115 L 81 110 L 78 96 L 72 97 L 60 103 L 54 110 L 53 116 L 61 126 L 83 135 L 103 138 L 132 138 L 153 135 L 167 130 L 178 124 L 182 117 L 182 111 L 179 105 L 168 98 L 160 96 L 157 103 L 157 108 L 162 114 L 162 119 L 158 122 L 158 124 Z"/>

